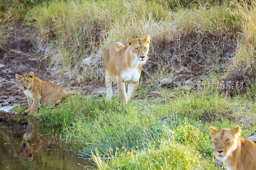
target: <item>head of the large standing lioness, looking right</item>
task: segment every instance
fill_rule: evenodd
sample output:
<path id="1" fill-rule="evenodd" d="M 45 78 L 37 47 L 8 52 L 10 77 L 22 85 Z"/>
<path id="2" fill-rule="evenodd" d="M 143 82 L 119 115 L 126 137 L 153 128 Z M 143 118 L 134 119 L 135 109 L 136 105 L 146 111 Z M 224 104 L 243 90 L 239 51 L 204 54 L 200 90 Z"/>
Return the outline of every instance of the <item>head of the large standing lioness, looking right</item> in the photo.
<path id="1" fill-rule="evenodd" d="M 134 57 L 138 59 L 140 63 L 146 63 L 148 59 L 148 48 L 150 43 L 150 36 L 145 39 L 137 38 L 132 40 L 130 37 L 127 38 L 128 48 L 131 49 L 131 53 Z"/>

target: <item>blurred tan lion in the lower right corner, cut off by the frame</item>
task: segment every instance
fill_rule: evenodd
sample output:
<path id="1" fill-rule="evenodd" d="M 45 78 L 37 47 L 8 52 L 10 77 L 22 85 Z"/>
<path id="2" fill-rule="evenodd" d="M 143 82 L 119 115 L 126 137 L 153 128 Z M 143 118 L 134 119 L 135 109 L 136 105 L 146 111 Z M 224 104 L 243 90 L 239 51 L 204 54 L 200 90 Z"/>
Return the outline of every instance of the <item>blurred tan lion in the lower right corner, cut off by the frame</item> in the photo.
<path id="1" fill-rule="evenodd" d="M 220 129 L 210 127 L 214 155 L 223 161 L 226 169 L 256 169 L 256 144 L 240 136 L 241 128 Z"/>

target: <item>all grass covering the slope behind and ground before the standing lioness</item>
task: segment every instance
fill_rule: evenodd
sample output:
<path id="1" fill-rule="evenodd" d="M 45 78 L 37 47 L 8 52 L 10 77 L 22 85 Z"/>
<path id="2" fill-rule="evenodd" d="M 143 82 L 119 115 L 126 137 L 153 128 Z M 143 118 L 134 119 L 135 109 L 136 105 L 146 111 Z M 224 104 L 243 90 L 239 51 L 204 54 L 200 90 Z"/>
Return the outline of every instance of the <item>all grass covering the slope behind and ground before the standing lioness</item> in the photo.
<path id="1" fill-rule="evenodd" d="M 253 79 L 243 94 L 232 96 L 216 85 L 185 90 L 183 81 L 216 83 L 236 71 L 255 77 L 256 3 L 30 0 L 9 4 L 6 11 L 0 2 L 0 24 L 5 24 L 0 29 L 17 19 L 33 26 L 54 48 L 54 54 L 44 55 L 63 71 L 77 71 L 82 59 L 90 57 L 81 78 L 85 82 L 102 81 L 110 42 L 151 36 L 150 62 L 143 66 L 132 104 L 122 107 L 117 94 L 111 101 L 76 95 L 53 109 L 40 106 L 36 114 L 46 125 L 60 126 L 62 139 L 76 144 L 80 155 L 92 155 L 99 169 L 214 169 L 209 126 L 239 124 L 242 137 L 255 130 Z M 180 85 L 160 87 L 163 78 Z"/>

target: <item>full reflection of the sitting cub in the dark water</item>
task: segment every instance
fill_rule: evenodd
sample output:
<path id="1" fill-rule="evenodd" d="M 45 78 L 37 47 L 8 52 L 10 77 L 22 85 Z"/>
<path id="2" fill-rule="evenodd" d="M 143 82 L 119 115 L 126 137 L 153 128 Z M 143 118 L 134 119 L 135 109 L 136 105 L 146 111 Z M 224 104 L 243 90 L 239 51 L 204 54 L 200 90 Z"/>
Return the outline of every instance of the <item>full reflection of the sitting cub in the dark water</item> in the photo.
<path id="1" fill-rule="evenodd" d="M 53 137 L 51 134 L 43 135 L 39 138 L 39 129 L 36 123 L 29 122 L 26 133 L 23 135 L 23 140 L 16 150 L 15 157 L 22 156 L 31 161 L 33 160 L 33 152 L 56 141 L 57 137 Z"/>

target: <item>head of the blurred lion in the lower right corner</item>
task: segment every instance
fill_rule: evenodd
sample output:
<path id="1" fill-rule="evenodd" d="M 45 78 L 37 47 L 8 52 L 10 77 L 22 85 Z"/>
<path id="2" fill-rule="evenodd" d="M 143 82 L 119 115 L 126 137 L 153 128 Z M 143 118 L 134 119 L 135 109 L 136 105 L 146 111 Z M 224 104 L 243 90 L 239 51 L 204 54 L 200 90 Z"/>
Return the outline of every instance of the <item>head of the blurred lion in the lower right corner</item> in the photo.
<path id="1" fill-rule="evenodd" d="M 214 155 L 217 159 L 225 160 L 237 148 L 238 138 L 241 134 L 240 126 L 234 129 L 223 128 L 219 130 L 211 126 L 210 132 Z"/>

